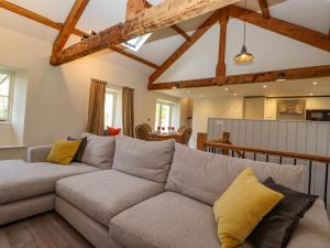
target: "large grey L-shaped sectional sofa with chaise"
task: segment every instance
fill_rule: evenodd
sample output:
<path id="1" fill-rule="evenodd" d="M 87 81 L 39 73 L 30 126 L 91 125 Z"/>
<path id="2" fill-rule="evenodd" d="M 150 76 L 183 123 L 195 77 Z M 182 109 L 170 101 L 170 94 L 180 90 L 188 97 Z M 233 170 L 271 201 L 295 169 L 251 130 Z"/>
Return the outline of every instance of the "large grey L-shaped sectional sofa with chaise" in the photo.
<path id="1" fill-rule="evenodd" d="M 43 160 L 47 151 L 47 148 L 30 150 L 33 157 L 30 161 Z M 2 162 L 0 179 L 8 177 L 8 182 L 0 181 L 0 200 L 2 195 L 7 198 L 0 203 L 0 224 L 55 206 L 55 211 L 97 248 L 220 248 L 212 205 L 248 165 L 260 180 L 272 176 L 293 190 L 304 188 L 304 166 L 215 155 L 172 140 L 146 142 L 120 136 L 116 139 L 113 157 L 111 170 L 87 164 L 73 164 L 70 169 L 44 162 Z M 11 165 L 15 169 L 10 169 Z M 47 173 L 42 172 L 41 176 L 22 180 L 24 172 L 19 172 L 22 179 L 19 176 L 10 183 L 13 174 L 6 175 L 4 171 L 19 170 L 19 166 L 33 166 L 31 171 L 35 174 L 37 166 L 50 166 L 43 169 L 50 171 L 58 166 L 67 173 L 58 172 L 56 177 L 50 172 L 52 176 L 46 177 Z M 34 187 L 38 183 L 33 182 L 40 177 L 48 182 L 42 186 L 47 190 Z M 3 193 L 3 188 L 14 190 L 13 185 L 21 183 L 34 193 L 20 196 Z M 46 207 L 25 215 L 20 214 L 26 211 L 24 206 L 13 207 L 14 211 L 7 213 L 18 217 L 1 219 L 2 206 L 30 200 L 38 206 L 43 197 L 48 197 Z M 240 247 L 251 246 L 246 242 Z M 330 224 L 321 200 L 306 213 L 288 248 L 330 248 Z"/>

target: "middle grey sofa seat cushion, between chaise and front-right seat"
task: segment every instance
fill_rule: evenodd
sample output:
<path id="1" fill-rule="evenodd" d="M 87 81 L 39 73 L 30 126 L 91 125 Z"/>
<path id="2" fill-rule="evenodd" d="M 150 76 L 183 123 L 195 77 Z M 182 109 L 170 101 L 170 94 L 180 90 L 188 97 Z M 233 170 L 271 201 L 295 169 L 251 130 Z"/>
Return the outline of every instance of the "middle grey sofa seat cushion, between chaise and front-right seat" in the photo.
<path id="1" fill-rule="evenodd" d="M 57 195 L 105 226 L 118 213 L 163 190 L 163 184 L 116 170 L 64 179 L 56 185 Z"/>

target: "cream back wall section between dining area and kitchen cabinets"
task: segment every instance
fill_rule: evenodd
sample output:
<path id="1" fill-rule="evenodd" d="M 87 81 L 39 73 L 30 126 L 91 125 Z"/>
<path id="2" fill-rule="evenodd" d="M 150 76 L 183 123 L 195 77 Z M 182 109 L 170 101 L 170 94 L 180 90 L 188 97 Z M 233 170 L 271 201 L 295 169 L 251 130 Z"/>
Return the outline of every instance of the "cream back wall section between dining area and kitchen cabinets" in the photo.
<path id="1" fill-rule="evenodd" d="M 207 132 L 208 118 L 243 118 L 243 103 L 242 97 L 195 99 L 190 145 L 196 145 L 197 132 Z"/>

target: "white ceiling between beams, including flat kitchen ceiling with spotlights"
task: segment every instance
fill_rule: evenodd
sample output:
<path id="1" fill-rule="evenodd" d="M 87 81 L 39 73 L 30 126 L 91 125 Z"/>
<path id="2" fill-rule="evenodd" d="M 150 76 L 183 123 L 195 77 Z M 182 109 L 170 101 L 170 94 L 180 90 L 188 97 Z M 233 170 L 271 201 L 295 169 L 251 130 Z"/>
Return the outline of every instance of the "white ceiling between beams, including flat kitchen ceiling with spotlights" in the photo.
<path id="1" fill-rule="evenodd" d="M 15 4 L 24 7 L 29 10 L 35 11 L 42 15 L 45 15 L 54 21 L 64 22 L 75 0 L 9 0 Z M 319 32 L 328 33 L 330 28 L 330 0 L 267 0 L 270 4 L 271 15 L 283 19 L 302 26 L 307 26 Z M 153 4 L 161 2 L 161 0 L 150 0 Z M 86 11 L 80 18 L 77 28 L 84 31 L 90 29 L 100 31 L 109 28 L 118 22 L 124 21 L 127 0 L 92 0 L 87 6 Z M 243 2 L 238 3 L 243 7 Z M 254 11 L 260 11 L 257 0 L 248 0 L 248 8 Z M 202 23 L 208 14 L 200 18 L 179 23 L 179 26 L 185 31 L 193 33 L 193 31 Z M 44 26 L 34 21 L 28 20 L 23 17 L 11 13 L 7 10 L 0 9 L 0 25 L 22 32 L 38 39 L 54 42 L 58 31 L 48 26 Z M 263 35 L 264 34 L 264 35 Z M 1 34 L 0 34 L 1 35 Z M 213 76 L 216 57 L 217 57 L 217 42 L 218 42 L 219 29 L 211 30 L 205 43 L 200 42 L 200 46 L 196 44 L 187 52 L 186 60 L 176 63 L 167 75 L 164 75 L 165 79 L 189 79 L 200 77 Z M 251 67 L 237 67 L 231 64 L 231 57 L 239 52 L 242 40 L 242 22 L 238 20 L 231 20 L 229 25 L 228 35 L 228 51 L 227 63 L 229 74 L 241 74 L 249 72 L 261 72 L 265 69 L 280 69 L 284 67 L 295 67 L 296 65 L 319 65 L 328 63 L 330 64 L 330 54 L 320 51 L 302 43 L 293 41 L 290 39 L 284 39 L 278 34 L 248 25 L 248 48 L 252 50 L 256 55 L 256 62 Z M 204 39 L 204 37 L 202 37 Z M 201 39 L 201 40 L 202 40 Z M 78 37 L 72 35 L 68 44 L 73 44 L 79 41 Z M 172 29 L 165 29 L 154 33 L 148 43 L 146 43 L 139 52 L 138 55 L 150 60 L 156 64 L 162 64 L 185 40 L 175 33 Z M 210 43 L 213 41 L 215 43 Z M 267 51 L 260 48 L 260 43 L 267 43 Z M 200 47 L 206 47 L 200 48 Z M 191 51 L 191 52 L 190 52 Z M 51 51 L 50 51 L 51 52 Z M 189 54 L 190 52 L 190 54 Z M 197 54 L 198 53 L 198 54 Z M 122 57 L 122 64 L 128 62 L 128 66 L 132 69 L 139 69 L 144 74 L 151 74 L 153 69 L 142 65 L 138 62 L 132 62 L 130 58 L 125 58 L 122 55 L 108 52 L 109 56 Z M 212 56 L 212 57 L 211 57 Z M 264 60 L 260 60 L 260 58 Z M 265 60 L 267 58 L 267 60 Z M 299 62 L 300 58 L 300 62 Z M 199 60 L 199 64 L 191 64 L 189 69 L 184 68 L 180 64 L 186 64 L 186 61 Z M 208 61 L 207 61 L 208 60 Z M 292 61 L 293 60 L 293 61 Z M 132 66 L 133 65 L 133 66 Z M 292 66 L 290 66 L 292 65 Z M 196 74 L 195 74 L 196 73 Z M 185 78 L 177 75 L 182 74 Z M 177 77 L 177 78 L 176 78 Z M 298 83 L 286 82 L 284 84 L 268 84 L 267 88 L 263 88 L 262 84 L 232 86 L 231 90 L 237 91 L 239 95 L 255 96 L 255 95 L 308 95 L 314 93 L 315 95 L 330 95 L 330 79 L 321 78 L 317 79 L 319 84 L 312 86 L 312 80 L 299 80 Z M 297 93 L 297 85 L 299 90 Z M 187 94 L 186 90 L 167 90 L 167 94 L 180 97 L 187 97 L 193 95 L 199 97 L 200 95 L 216 97 L 226 96 L 227 91 L 220 87 L 198 88 L 191 89 L 191 94 Z"/>

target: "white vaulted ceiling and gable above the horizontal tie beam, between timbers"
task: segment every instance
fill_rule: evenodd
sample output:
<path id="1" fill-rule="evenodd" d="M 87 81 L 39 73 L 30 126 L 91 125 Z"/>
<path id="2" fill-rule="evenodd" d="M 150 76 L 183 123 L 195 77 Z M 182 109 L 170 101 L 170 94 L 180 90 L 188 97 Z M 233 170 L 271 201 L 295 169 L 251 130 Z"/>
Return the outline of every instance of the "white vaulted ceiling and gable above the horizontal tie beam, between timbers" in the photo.
<path id="1" fill-rule="evenodd" d="M 10 2 L 19 4 L 23 8 L 45 15 L 56 22 L 64 22 L 69 10 L 74 4 L 74 0 L 10 0 Z M 157 4 L 161 0 L 150 0 L 152 4 Z M 329 33 L 330 28 L 330 1 L 329 0 L 267 0 L 271 15 L 282 19 L 305 28 L 312 29 L 321 33 Z M 242 7 L 242 2 L 237 6 Z M 103 1 L 94 0 L 89 2 L 76 28 L 82 31 L 90 29 L 100 31 L 109 28 L 118 22 L 123 22 L 125 18 L 127 0 Z M 248 0 L 248 9 L 261 12 L 258 0 Z M 209 15 L 205 14 L 194 20 L 179 23 L 178 26 L 191 34 Z M 52 30 L 48 26 L 38 24 L 34 21 L 26 20 L 7 10 L 0 9 L 0 25 L 40 37 L 42 40 L 54 42 L 58 31 Z M 319 48 L 310 47 L 290 39 L 275 37 L 273 33 L 255 28 L 248 26 L 248 45 L 257 55 L 257 61 L 252 66 L 238 67 L 230 62 L 232 56 L 239 52 L 242 39 L 242 22 L 230 20 L 229 22 L 229 40 L 227 46 L 227 61 L 229 62 L 229 74 L 243 74 L 262 72 L 263 69 L 283 69 L 299 66 L 312 66 L 330 64 L 329 52 L 320 51 Z M 250 32 L 250 33 L 249 33 Z M 261 34 L 265 33 L 265 35 Z M 216 61 L 218 57 L 219 28 L 215 26 L 206 34 L 206 37 L 200 39 L 196 44 L 197 48 L 188 51 L 180 60 L 178 60 L 172 68 L 168 69 L 162 77 L 163 80 L 179 80 L 191 79 L 199 77 L 213 76 Z M 262 39 L 265 36 L 265 39 Z M 329 37 L 330 39 L 330 37 Z M 78 42 L 80 39 L 70 35 L 66 46 Z M 265 42 L 274 41 L 265 44 Z M 179 35 L 173 29 L 165 29 L 153 33 L 150 41 L 135 54 L 156 65 L 161 65 L 180 44 L 185 42 L 185 37 Z M 263 44 L 258 44 L 263 42 Z M 295 52 L 296 50 L 296 52 Z M 301 54 L 306 52 L 306 54 Z M 109 56 L 113 54 L 109 51 Z M 283 56 L 280 56 L 280 54 Z M 293 57 L 297 54 L 297 57 Z M 289 57 L 290 56 L 290 57 Z M 299 62 L 299 56 L 302 62 Z M 283 58 L 287 57 L 287 61 Z M 208 61 L 206 61 L 208 58 Z M 134 64 L 134 68 L 140 69 L 145 74 L 152 74 L 154 68 L 145 66 L 138 62 L 132 62 L 129 58 L 128 63 Z M 199 61 L 193 62 L 193 60 Z M 283 60 L 280 62 L 280 60 Z M 189 63 L 193 62 L 190 65 Z M 206 64 L 207 63 L 207 64 Z M 284 67 L 283 67 L 283 65 Z M 200 65 L 200 66 L 199 66 Z M 262 67 L 262 68 L 260 68 Z M 200 69 L 200 72 L 196 72 Z M 189 73 L 193 72 L 193 73 Z M 190 75 L 189 75 L 190 74 Z M 163 79 L 163 80 L 162 80 Z M 330 94 L 330 89 L 329 89 Z"/>

